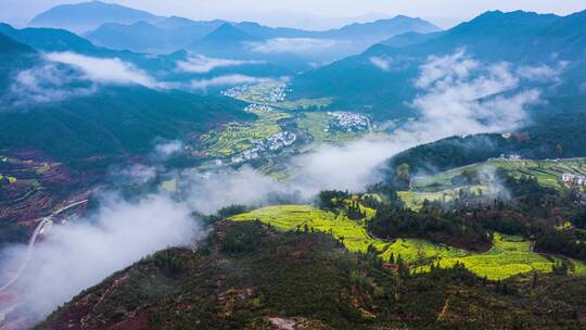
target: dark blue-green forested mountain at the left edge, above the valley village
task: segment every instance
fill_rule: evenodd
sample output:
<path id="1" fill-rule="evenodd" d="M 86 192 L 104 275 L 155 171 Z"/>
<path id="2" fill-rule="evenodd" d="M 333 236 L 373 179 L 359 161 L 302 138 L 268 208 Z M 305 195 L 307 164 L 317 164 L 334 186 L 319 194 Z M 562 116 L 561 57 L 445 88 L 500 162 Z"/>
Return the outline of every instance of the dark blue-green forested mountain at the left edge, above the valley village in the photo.
<path id="1" fill-rule="evenodd" d="M 51 40 L 42 42 L 41 36 L 53 33 L 64 37 L 53 41 L 75 40 L 73 45 L 91 46 L 60 29 L 11 31 L 38 46 Z M 75 38 L 69 39 L 72 36 Z M 44 66 L 40 54 L 3 34 L 0 49 L 0 149 L 4 151 L 28 150 L 62 162 L 144 154 L 155 138 L 186 138 L 221 123 L 254 117 L 242 111 L 241 102 L 231 99 L 138 85 L 93 85 L 67 65 Z M 25 71 L 33 78 L 16 81 L 14 76 Z"/>

